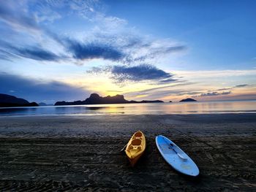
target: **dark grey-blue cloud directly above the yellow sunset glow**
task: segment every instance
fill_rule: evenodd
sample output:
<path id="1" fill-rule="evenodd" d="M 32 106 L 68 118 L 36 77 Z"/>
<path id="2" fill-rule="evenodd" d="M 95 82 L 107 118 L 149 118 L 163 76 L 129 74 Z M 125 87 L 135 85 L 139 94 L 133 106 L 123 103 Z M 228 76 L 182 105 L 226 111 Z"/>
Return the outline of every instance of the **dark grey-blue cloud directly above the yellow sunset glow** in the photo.
<path id="1" fill-rule="evenodd" d="M 140 81 L 155 81 L 155 82 L 174 82 L 173 74 L 167 73 L 162 69 L 158 69 L 156 66 L 150 64 L 140 64 L 137 66 L 105 66 L 94 67 L 88 71 L 89 73 L 109 73 L 110 78 L 117 84 L 124 82 L 140 82 Z"/>

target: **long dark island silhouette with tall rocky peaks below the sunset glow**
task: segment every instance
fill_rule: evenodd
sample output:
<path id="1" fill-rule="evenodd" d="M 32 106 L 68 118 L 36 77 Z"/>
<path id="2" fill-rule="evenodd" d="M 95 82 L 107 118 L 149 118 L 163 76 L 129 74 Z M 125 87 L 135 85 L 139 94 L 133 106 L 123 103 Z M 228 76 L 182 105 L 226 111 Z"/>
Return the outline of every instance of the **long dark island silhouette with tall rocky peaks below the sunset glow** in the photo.
<path id="1" fill-rule="evenodd" d="M 164 101 L 160 100 L 143 100 L 143 101 L 127 101 L 124 99 L 123 95 L 116 95 L 116 96 L 99 96 L 97 93 L 92 93 L 89 98 L 87 98 L 84 101 L 73 101 L 73 102 L 67 102 L 67 101 L 57 101 L 55 106 L 58 105 L 78 105 L 78 104 L 136 104 L 136 103 L 162 103 Z"/>

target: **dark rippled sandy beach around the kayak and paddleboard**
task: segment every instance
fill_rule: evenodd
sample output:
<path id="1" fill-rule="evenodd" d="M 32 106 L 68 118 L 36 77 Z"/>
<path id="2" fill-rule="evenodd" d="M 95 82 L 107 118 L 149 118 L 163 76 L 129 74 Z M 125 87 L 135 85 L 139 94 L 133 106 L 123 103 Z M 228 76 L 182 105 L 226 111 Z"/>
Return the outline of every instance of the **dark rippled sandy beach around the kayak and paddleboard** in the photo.
<path id="1" fill-rule="evenodd" d="M 119 150 L 139 129 L 147 148 L 132 168 Z M 157 134 L 200 176 L 165 163 Z M 0 117 L 0 191 L 256 191 L 256 114 Z"/>

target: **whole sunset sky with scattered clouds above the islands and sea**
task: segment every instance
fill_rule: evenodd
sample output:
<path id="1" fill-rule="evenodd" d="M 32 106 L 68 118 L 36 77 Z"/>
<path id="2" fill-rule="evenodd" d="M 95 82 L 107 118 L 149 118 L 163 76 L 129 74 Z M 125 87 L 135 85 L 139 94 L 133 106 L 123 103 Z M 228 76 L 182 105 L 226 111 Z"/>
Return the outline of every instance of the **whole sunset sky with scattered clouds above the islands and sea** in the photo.
<path id="1" fill-rule="evenodd" d="M 0 2 L 0 93 L 256 99 L 256 1 Z"/>

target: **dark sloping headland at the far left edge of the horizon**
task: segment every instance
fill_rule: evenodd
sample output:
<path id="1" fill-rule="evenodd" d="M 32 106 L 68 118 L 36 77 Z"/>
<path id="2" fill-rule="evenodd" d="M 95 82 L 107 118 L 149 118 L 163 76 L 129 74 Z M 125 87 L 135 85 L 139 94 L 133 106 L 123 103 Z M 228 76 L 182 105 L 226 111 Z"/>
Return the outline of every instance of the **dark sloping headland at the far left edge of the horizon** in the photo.
<path id="1" fill-rule="evenodd" d="M 17 98 L 7 94 L 0 93 L 0 107 L 34 107 L 38 106 L 36 102 L 27 101 L 26 99 Z"/>

